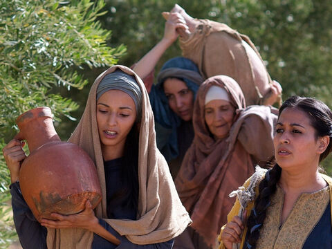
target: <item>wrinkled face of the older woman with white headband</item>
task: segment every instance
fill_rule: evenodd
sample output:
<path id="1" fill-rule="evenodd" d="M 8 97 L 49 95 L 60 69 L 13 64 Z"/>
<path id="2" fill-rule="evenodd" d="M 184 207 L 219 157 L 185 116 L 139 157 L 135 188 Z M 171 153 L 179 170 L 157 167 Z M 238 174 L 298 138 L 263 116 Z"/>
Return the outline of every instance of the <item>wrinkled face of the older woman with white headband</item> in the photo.
<path id="1" fill-rule="evenodd" d="M 227 100 L 211 100 L 205 104 L 205 122 L 216 139 L 228 136 L 234 116 L 235 108 Z"/>

